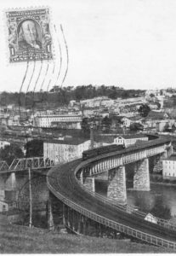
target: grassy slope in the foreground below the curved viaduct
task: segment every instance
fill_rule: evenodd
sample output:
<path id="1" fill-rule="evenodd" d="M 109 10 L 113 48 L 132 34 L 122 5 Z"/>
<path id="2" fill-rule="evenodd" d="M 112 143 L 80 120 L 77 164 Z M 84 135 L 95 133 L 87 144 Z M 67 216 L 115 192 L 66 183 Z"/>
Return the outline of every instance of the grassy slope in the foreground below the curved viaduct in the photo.
<path id="1" fill-rule="evenodd" d="M 131 241 L 57 234 L 9 224 L 0 215 L 0 253 L 173 253 Z"/>

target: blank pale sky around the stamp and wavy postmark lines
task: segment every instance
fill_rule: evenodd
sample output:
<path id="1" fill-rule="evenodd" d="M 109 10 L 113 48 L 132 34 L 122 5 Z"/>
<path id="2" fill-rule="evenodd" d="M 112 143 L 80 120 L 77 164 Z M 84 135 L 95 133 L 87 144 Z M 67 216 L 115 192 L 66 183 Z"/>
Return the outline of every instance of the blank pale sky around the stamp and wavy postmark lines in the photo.
<path id="1" fill-rule="evenodd" d="M 55 57 L 49 62 L 43 90 L 51 89 L 54 84 L 60 85 L 65 74 L 67 59 L 60 24 L 69 52 L 68 73 L 63 86 L 105 84 L 151 90 L 176 87 L 175 0 L 6 0 L 0 1 L 0 91 L 20 91 L 26 72 L 26 62 L 9 63 L 4 11 L 31 7 L 49 7 L 51 11 Z M 60 52 L 57 38 L 63 58 L 58 80 Z M 23 91 L 27 90 L 33 65 L 32 62 L 29 65 Z M 41 89 L 47 65 L 47 61 L 43 62 L 35 85 L 41 67 L 41 62 L 37 61 L 28 90 Z"/>

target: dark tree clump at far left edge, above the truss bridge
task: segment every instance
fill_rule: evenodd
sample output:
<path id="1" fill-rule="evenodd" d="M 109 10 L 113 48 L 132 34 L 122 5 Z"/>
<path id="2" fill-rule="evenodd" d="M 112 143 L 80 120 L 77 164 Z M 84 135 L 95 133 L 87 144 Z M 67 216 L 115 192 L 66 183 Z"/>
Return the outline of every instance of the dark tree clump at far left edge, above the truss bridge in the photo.
<path id="1" fill-rule="evenodd" d="M 24 157 L 23 151 L 18 145 L 14 143 L 10 145 L 6 145 L 4 148 L 0 149 L 0 159 L 3 161 L 6 161 L 8 165 L 10 165 L 15 158 L 23 158 L 23 157 Z"/>

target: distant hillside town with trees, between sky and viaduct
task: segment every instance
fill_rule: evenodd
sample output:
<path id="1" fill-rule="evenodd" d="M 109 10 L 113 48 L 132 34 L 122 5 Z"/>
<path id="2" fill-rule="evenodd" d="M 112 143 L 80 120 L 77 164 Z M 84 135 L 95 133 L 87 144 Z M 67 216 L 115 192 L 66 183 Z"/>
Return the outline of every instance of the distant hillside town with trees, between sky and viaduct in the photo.
<path id="1" fill-rule="evenodd" d="M 93 146 L 90 131 L 94 147 L 115 143 L 118 136 L 128 147 L 139 140 L 142 132 L 174 135 L 175 108 L 173 89 L 123 90 L 88 85 L 63 89 L 54 86 L 49 92 L 26 95 L 2 92 L 0 147 L 15 144 L 24 156 L 43 156 L 63 163 Z M 40 150 L 26 147 L 32 145 L 32 140 L 37 140 Z M 9 161 L 0 155 L 1 160 Z"/>

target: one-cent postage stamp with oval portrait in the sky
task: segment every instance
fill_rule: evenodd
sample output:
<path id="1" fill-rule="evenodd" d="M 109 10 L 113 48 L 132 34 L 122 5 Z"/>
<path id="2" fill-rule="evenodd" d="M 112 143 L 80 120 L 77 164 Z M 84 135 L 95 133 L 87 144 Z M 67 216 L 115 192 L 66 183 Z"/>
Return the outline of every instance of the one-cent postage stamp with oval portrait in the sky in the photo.
<path id="1" fill-rule="evenodd" d="M 9 62 L 42 61 L 53 58 L 49 9 L 6 12 Z"/>

